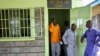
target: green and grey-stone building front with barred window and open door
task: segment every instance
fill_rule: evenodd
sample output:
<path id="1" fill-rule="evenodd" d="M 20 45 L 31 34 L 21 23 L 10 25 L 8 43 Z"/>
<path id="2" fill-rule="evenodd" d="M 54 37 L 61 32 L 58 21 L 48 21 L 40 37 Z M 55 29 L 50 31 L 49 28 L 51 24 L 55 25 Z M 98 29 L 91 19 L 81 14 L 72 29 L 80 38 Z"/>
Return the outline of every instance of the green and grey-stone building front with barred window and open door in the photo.
<path id="1" fill-rule="evenodd" d="M 90 6 L 82 0 L 0 0 L 0 56 L 49 56 L 48 25 L 51 17 L 63 30 L 67 20 L 78 25 L 78 51 L 85 43 L 80 36 L 91 17 Z"/>

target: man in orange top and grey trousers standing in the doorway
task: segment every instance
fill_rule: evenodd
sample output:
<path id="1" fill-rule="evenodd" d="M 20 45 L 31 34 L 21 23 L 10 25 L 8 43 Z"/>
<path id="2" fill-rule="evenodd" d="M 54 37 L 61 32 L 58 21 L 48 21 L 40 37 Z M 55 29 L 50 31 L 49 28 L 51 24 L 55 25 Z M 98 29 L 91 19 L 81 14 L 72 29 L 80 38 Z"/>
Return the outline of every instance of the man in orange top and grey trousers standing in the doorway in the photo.
<path id="1" fill-rule="evenodd" d="M 60 27 L 56 23 L 56 19 L 52 18 L 52 22 L 49 26 L 49 31 L 51 33 L 51 51 L 52 56 L 60 56 Z"/>

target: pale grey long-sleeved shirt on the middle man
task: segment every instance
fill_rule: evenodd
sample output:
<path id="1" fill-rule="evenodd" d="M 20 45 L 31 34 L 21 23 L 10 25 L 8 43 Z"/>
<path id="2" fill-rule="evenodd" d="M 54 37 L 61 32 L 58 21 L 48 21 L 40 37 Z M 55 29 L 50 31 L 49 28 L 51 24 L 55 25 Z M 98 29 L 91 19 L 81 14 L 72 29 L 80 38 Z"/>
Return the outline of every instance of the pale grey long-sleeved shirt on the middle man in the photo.
<path id="1" fill-rule="evenodd" d="M 64 44 L 75 46 L 76 36 L 77 36 L 76 32 L 73 32 L 71 29 L 67 29 L 62 37 Z"/>

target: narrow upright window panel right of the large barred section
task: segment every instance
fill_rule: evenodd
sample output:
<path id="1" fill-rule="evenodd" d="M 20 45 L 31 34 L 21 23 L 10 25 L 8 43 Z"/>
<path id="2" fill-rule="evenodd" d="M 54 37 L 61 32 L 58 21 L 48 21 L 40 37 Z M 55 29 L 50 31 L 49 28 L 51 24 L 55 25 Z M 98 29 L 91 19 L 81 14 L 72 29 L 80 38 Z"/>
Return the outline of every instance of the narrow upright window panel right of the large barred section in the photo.
<path id="1" fill-rule="evenodd" d="M 44 22 L 43 8 L 35 8 L 35 36 L 43 36 L 43 22 Z"/>

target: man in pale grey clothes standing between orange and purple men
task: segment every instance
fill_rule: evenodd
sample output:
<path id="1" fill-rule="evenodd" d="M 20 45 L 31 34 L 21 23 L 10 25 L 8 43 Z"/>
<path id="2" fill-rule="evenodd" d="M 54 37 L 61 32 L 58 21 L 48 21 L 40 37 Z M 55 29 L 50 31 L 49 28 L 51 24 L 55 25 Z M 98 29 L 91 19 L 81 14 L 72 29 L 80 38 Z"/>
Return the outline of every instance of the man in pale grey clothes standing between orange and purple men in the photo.
<path id="1" fill-rule="evenodd" d="M 76 36 L 76 24 L 73 23 L 71 29 L 67 29 L 62 37 L 68 56 L 77 56 Z"/>

